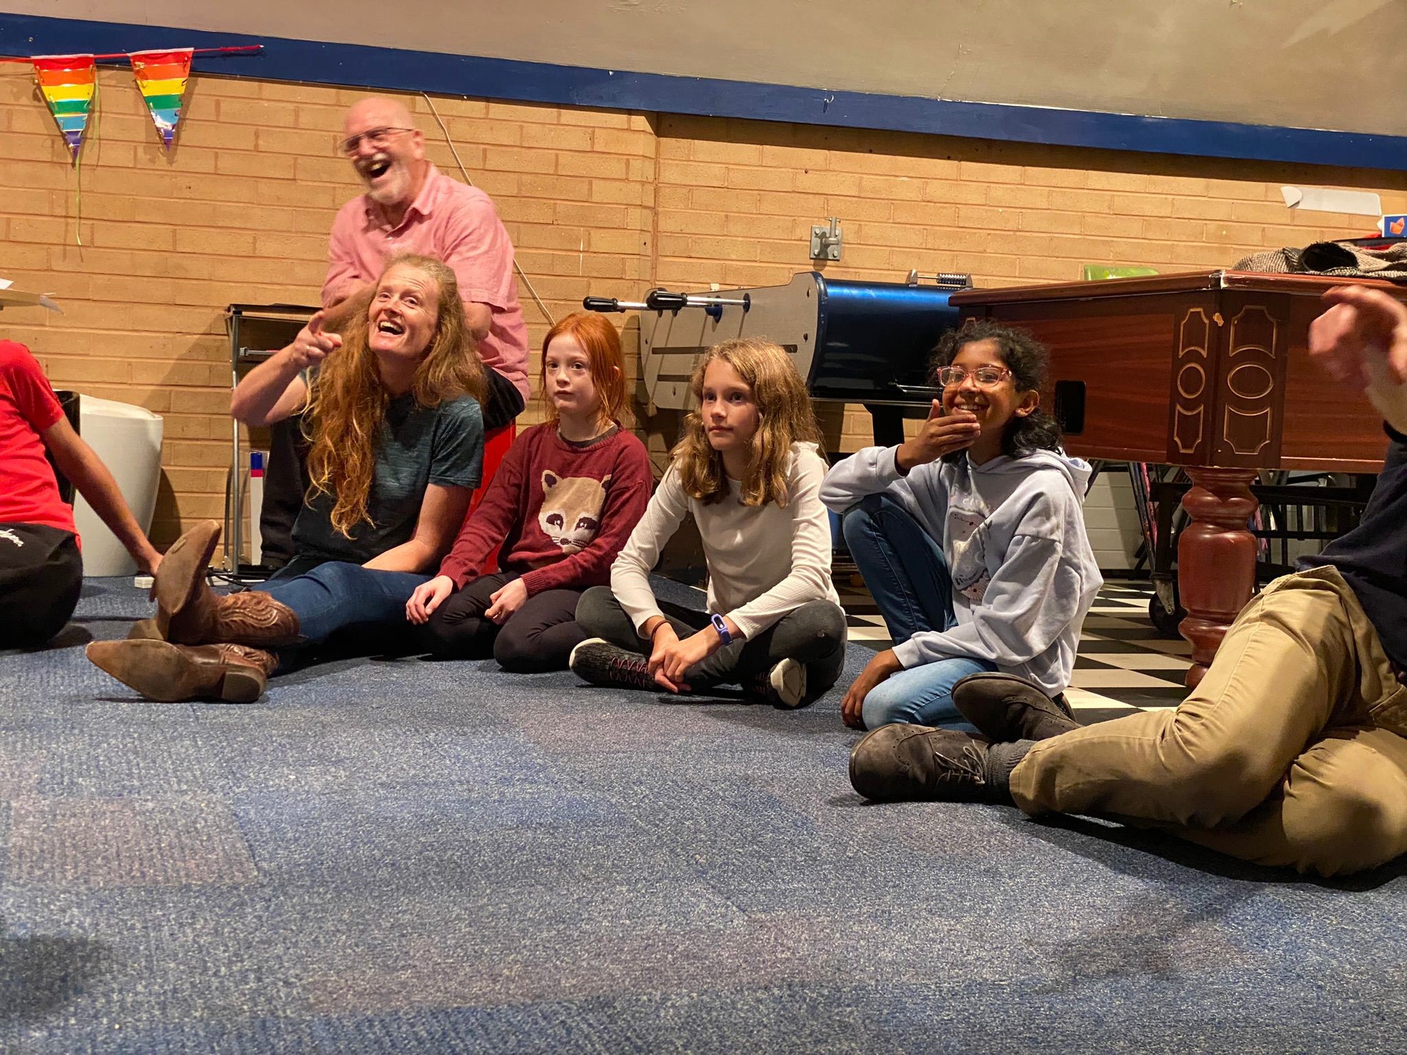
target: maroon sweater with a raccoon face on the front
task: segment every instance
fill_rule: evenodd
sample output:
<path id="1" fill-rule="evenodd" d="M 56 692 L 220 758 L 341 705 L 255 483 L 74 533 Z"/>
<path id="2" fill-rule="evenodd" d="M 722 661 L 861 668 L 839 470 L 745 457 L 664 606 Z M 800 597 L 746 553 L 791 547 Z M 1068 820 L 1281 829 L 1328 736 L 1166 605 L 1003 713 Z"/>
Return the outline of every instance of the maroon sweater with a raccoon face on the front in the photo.
<path id="1" fill-rule="evenodd" d="M 568 443 L 554 425 L 535 425 L 508 449 L 439 574 L 463 589 L 502 543 L 498 563 L 522 573 L 529 596 L 606 585 L 653 485 L 644 445 L 629 432 Z"/>

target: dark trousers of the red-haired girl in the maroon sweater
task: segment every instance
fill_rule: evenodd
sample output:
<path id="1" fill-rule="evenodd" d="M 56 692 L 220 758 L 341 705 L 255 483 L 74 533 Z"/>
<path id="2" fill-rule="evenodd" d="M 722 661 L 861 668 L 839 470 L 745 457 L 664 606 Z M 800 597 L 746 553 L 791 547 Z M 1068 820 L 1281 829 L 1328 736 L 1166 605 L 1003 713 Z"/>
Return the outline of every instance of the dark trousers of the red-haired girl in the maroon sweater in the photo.
<path id="1" fill-rule="evenodd" d="M 480 575 L 450 594 L 421 627 L 421 646 L 442 660 L 487 660 L 515 674 L 564 671 L 571 650 L 587 634 L 577 626 L 580 589 L 545 589 L 529 596 L 508 622 L 484 618 L 494 591 L 519 578 L 516 571 Z"/>

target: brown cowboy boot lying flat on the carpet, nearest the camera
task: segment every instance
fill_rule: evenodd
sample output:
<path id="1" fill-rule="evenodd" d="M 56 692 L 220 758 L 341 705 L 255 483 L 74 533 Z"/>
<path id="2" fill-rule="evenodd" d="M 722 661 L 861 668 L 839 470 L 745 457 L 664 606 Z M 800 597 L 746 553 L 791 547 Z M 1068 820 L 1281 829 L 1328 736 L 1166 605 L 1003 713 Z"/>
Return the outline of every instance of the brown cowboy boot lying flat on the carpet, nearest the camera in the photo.
<path id="1" fill-rule="evenodd" d="M 241 644 L 187 646 L 156 639 L 93 641 L 86 654 L 94 667 L 159 703 L 253 703 L 279 665 L 270 653 Z"/>

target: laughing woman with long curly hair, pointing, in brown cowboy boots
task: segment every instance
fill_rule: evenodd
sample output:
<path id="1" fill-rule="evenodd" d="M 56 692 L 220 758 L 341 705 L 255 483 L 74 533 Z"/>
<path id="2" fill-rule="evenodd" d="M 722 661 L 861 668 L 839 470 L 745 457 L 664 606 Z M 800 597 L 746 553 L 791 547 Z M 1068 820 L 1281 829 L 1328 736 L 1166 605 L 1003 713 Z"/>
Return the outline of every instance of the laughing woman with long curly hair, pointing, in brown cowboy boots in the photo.
<path id="1" fill-rule="evenodd" d="M 311 485 L 293 560 L 262 591 L 217 596 L 205 570 L 219 525 L 207 520 L 167 550 L 156 618 L 131 640 L 89 646 L 94 664 L 151 699 L 252 702 L 280 664 L 307 657 L 295 646 L 402 627 L 405 602 L 464 519 L 485 383 L 454 273 L 397 257 L 342 333 L 321 324 L 318 312 L 231 401 L 246 425 L 304 411 Z"/>

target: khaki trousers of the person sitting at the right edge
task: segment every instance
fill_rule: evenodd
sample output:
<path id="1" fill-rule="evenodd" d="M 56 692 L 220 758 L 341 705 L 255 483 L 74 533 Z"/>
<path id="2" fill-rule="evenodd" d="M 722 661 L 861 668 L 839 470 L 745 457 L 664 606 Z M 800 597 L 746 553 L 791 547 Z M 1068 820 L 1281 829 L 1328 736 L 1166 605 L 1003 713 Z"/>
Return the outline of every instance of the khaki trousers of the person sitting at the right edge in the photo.
<path id="1" fill-rule="evenodd" d="M 1012 772 L 1012 795 L 1027 813 L 1097 813 L 1195 829 L 1189 837 L 1237 857 L 1318 868 L 1324 852 L 1323 864 L 1342 871 L 1351 858 L 1331 858 L 1348 852 L 1344 844 L 1359 834 L 1342 833 L 1331 852 L 1321 837 L 1316 841 L 1321 826 L 1300 806 L 1332 812 L 1342 798 L 1359 827 L 1372 829 L 1361 833 L 1369 838 L 1401 827 L 1392 817 L 1397 799 L 1380 803 L 1372 823 L 1361 806 L 1365 796 L 1397 795 L 1392 771 L 1403 771 L 1407 750 L 1399 748 L 1407 743 L 1380 736 L 1400 740 L 1404 715 L 1407 688 L 1358 599 L 1337 571 L 1317 568 L 1278 580 L 1247 605 L 1207 675 L 1176 710 L 1036 744 Z M 1351 737 L 1354 727 L 1373 736 Z M 1325 738 L 1325 729 L 1337 731 Z M 1365 753 L 1372 764 L 1363 764 Z M 1275 802 L 1289 809 L 1282 805 L 1276 814 Z M 1244 845 L 1230 834 L 1238 821 Z"/>

